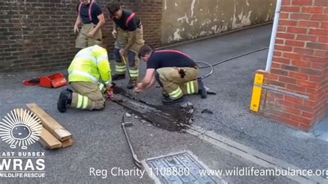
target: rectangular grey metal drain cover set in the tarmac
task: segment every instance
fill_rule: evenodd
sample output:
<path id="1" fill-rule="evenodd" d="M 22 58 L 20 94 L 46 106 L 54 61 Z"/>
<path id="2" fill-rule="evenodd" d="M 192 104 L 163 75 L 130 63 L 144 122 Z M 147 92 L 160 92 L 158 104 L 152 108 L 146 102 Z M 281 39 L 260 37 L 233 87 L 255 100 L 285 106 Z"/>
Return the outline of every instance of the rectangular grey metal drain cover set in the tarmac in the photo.
<path id="1" fill-rule="evenodd" d="M 149 176 L 161 183 L 217 183 L 211 176 L 201 176 L 199 171 L 206 168 L 188 152 L 149 158 L 146 163 Z"/>

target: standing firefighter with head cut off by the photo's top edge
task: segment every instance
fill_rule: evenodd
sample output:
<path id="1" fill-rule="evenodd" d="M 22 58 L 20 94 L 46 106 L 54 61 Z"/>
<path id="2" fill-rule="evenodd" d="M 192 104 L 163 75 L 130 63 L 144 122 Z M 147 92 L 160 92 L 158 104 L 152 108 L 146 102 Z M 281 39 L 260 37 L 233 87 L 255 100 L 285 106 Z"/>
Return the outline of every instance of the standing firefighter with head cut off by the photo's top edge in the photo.
<path id="1" fill-rule="evenodd" d="M 79 50 L 102 44 L 102 33 L 100 28 L 104 26 L 104 15 L 101 7 L 94 0 L 81 0 L 77 6 L 78 17 L 74 25 L 74 33 L 80 32 L 75 40 L 75 48 Z M 78 26 L 82 23 L 82 28 Z"/>

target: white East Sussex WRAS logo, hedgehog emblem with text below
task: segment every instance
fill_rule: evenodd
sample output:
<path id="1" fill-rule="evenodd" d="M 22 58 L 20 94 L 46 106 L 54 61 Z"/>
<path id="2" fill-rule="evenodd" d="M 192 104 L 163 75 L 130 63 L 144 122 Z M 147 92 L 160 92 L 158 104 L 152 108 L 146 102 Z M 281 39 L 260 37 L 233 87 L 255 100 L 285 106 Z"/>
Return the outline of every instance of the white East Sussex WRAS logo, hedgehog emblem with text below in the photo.
<path id="1" fill-rule="evenodd" d="M 41 129 L 40 120 L 34 113 L 15 109 L 0 122 L 0 137 L 11 149 L 27 149 L 39 140 Z M 0 178 L 45 177 L 44 152 L 3 151 L 0 154 Z"/>

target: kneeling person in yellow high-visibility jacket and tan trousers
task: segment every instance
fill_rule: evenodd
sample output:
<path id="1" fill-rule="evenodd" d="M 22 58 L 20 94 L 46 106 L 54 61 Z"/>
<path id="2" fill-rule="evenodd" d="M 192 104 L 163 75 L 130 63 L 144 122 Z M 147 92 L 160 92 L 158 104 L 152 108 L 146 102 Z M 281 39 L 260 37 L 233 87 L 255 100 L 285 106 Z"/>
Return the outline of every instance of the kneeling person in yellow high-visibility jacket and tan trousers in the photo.
<path id="1" fill-rule="evenodd" d="M 63 113 L 66 107 L 103 109 L 104 93 L 112 95 L 111 68 L 107 50 L 98 45 L 80 50 L 68 71 L 69 84 L 73 90 L 66 89 L 60 93 L 57 102 L 58 111 Z"/>

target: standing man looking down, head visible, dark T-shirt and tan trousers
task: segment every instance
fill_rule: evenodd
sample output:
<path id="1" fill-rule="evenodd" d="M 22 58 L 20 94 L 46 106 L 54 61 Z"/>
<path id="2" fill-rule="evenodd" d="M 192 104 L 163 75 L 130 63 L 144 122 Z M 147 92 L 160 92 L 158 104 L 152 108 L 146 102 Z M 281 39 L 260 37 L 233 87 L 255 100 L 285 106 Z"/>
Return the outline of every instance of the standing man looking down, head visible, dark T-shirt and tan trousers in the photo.
<path id="1" fill-rule="evenodd" d="M 127 66 L 125 59 L 122 57 L 127 55 L 130 77 L 127 88 L 133 89 L 139 76 L 138 51 L 145 43 L 143 40 L 143 26 L 134 12 L 122 10 L 117 1 L 111 1 L 107 8 L 113 20 L 112 35 L 116 38 L 115 48 L 113 49 L 116 60 L 116 74 L 113 75 L 112 79 L 120 80 L 125 78 Z"/>

